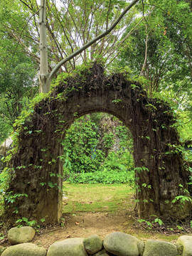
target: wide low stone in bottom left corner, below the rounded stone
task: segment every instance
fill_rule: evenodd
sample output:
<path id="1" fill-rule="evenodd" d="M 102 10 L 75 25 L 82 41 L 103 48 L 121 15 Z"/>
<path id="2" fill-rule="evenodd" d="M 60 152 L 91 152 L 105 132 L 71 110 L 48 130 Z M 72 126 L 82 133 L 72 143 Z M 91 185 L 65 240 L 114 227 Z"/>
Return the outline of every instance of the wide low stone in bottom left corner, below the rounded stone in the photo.
<path id="1" fill-rule="evenodd" d="M 7 248 L 1 256 L 46 256 L 46 249 L 31 243 L 23 243 Z"/>

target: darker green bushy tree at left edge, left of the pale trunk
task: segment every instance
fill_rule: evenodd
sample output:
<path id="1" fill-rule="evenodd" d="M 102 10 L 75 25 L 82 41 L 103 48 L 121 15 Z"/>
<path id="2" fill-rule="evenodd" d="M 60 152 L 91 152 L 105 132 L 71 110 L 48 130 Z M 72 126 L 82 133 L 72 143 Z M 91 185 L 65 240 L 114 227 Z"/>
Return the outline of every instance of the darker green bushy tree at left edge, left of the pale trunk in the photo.
<path id="1" fill-rule="evenodd" d="M 36 69 L 31 58 L 22 52 L 12 55 L 15 44 L 9 35 L 0 32 L 0 141 L 11 132 L 12 125 L 28 106 L 31 97 L 36 93 L 34 77 Z"/>

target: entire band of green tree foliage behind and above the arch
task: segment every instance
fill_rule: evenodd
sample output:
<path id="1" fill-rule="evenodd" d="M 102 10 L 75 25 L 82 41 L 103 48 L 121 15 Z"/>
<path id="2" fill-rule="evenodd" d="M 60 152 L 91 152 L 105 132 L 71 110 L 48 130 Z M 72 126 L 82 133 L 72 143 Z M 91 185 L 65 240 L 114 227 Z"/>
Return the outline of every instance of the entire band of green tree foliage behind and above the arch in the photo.
<path id="1" fill-rule="evenodd" d="M 109 28 L 128 5 L 125 0 L 48 0 L 49 72 L 60 60 Z M 28 98 L 37 92 L 39 2 L 16 0 L 10 5 L 8 0 L 2 0 L 0 19 L 0 127 L 8 125 L 11 129 L 21 109 L 27 107 Z M 190 1 L 139 1 L 112 33 L 65 63 L 60 72 L 70 73 L 77 65 L 97 58 L 104 60 L 108 71 L 116 68 L 127 71 L 130 78 L 139 78 L 151 97 L 171 99 L 182 125 L 191 124 Z M 2 139 L 8 130 L 1 129 Z M 183 131 L 181 127 L 179 130 Z M 186 130 L 182 135 L 185 139 L 190 137 Z"/>

